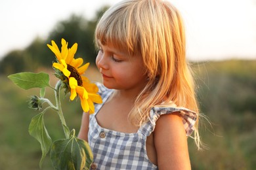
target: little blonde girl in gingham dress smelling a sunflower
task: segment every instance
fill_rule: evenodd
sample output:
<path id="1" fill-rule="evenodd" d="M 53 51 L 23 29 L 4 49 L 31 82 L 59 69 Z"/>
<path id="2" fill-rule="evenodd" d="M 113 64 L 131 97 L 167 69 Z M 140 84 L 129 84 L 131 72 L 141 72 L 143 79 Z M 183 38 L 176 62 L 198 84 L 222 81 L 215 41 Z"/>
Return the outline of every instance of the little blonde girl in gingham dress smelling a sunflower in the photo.
<path id="1" fill-rule="evenodd" d="M 91 169 L 190 169 L 187 137 L 198 105 L 186 63 L 184 27 L 167 1 L 121 1 L 96 26 L 103 103 L 83 114 L 79 138 Z"/>

